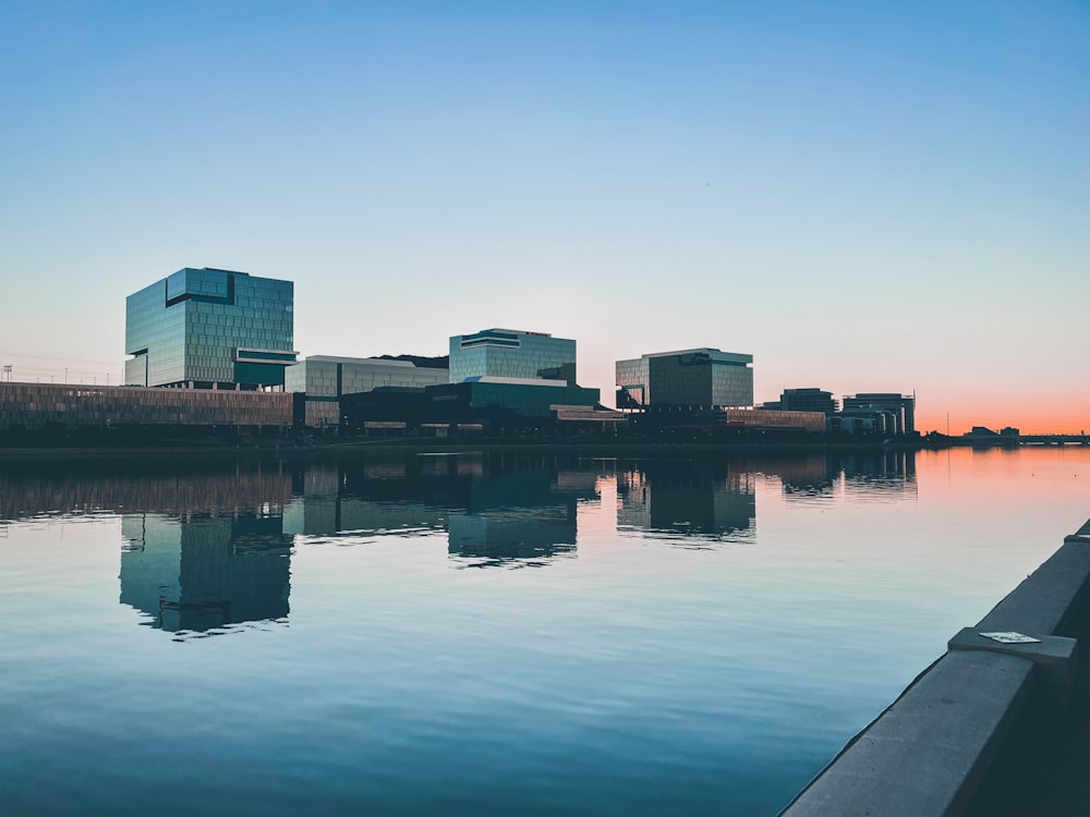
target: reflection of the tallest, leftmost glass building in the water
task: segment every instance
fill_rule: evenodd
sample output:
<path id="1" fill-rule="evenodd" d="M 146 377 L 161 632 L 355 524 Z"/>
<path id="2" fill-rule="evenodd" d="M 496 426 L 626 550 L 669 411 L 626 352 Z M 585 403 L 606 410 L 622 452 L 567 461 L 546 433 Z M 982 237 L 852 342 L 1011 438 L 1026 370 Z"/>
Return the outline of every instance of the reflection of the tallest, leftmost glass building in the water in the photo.
<path id="1" fill-rule="evenodd" d="M 288 615 L 291 537 L 279 515 L 130 514 L 121 603 L 150 626 L 206 632 Z"/>

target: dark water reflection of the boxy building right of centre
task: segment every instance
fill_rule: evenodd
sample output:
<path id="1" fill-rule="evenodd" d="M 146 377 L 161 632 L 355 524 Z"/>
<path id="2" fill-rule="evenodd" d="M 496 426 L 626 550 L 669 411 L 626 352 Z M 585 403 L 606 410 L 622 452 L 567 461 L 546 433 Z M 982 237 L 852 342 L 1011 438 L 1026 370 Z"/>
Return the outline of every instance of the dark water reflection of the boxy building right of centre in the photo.
<path id="1" fill-rule="evenodd" d="M 751 532 L 752 474 L 725 463 L 644 460 L 617 476 L 617 524 L 723 538 Z"/>

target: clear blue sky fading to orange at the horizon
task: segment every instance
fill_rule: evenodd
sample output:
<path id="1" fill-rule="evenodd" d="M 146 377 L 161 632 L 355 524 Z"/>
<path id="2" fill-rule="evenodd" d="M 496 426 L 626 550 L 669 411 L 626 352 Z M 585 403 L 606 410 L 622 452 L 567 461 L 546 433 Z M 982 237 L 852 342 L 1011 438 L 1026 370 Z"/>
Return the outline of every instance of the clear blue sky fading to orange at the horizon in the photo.
<path id="1" fill-rule="evenodd" d="M 117 383 L 124 298 L 294 281 L 302 356 L 697 346 L 921 430 L 1090 428 L 1090 4 L 0 4 L 0 364 Z"/>

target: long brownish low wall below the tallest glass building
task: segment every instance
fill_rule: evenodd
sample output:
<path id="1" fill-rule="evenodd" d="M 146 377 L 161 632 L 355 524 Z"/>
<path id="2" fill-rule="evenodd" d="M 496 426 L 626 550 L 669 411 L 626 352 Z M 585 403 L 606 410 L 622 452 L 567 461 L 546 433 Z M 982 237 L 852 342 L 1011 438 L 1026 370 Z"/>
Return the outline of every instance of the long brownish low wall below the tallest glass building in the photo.
<path id="1" fill-rule="evenodd" d="M 0 382 L 0 431 L 291 423 L 286 392 Z"/>

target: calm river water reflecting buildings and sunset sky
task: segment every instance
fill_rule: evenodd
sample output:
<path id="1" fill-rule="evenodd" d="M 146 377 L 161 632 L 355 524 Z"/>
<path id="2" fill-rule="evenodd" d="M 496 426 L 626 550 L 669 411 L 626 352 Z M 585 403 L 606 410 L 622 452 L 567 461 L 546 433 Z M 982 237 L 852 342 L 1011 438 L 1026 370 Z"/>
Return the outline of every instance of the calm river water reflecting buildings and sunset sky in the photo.
<path id="1" fill-rule="evenodd" d="M 0 464 L 0 814 L 775 815 L 1090 452 Z"/>

